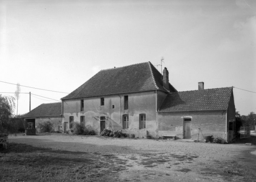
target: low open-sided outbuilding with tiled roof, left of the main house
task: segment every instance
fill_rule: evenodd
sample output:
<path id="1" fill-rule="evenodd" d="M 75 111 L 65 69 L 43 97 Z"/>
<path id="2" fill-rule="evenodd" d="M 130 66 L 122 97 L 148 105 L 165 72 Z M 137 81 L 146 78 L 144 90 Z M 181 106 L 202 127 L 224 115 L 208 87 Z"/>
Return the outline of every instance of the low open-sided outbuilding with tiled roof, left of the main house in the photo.
<path id="1" fill-rule="evenodd" d="M 22 117 L 27 129 L 41 131 L 40 124 L 50 121 L 54 131 L 60 131 L 62 127 L 61 102 L 41 104 Z"/>

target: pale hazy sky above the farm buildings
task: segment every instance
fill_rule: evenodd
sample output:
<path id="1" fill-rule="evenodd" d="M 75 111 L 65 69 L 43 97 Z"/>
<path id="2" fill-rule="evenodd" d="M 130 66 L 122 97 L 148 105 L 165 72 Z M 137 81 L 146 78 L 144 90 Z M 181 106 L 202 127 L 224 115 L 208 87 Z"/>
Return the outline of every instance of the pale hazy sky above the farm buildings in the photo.
<path id="1" fill-rule="evenodd" d="M 102 69 L 162 57 L 178 91 L 234 86 L 237 111 L 256 112 L 256 1 L 0 0 L 0 81 L 70 93 Z M 35 94 L 31 109 L 67 95 L 21 92 Z"/>

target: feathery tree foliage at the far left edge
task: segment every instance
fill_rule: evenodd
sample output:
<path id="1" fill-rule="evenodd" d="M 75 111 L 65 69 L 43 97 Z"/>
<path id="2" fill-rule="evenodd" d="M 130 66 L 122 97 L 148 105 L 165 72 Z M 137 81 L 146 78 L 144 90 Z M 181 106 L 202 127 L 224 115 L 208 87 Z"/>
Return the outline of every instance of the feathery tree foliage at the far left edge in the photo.
<path id="1" fill-rule="evenodd" d="M 15 98 L 12 96 L 2 96 L 0 94 L 0 133 L 14 133 L 17 130 L 12 121 L 15 108 Z"/>

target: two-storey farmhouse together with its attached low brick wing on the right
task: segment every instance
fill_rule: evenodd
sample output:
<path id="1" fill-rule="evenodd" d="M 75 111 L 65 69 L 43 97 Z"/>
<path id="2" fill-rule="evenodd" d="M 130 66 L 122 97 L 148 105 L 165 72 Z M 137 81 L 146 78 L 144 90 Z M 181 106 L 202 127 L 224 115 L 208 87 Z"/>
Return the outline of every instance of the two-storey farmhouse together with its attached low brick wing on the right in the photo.
<path id="1" fill-rule="evenodd" d="M 202 140 L 202 133 L 230 142 L 235 130 L 232 87 L 204 89 L 202 82 L 198 87 L 178 92 L 167 68 L 162 75 L 150 62 L 101 70 L 61 99 L 64 131 L 77 122 L 96 134 L 107 128 L 139 138 Z"/>

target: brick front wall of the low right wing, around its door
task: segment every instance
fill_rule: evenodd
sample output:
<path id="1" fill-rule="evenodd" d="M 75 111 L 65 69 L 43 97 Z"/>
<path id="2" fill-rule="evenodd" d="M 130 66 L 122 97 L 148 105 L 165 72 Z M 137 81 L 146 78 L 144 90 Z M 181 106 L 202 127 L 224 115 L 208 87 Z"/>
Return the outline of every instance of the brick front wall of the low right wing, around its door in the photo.
<path id="1" fill-rule="evenodd" d="M 197 140 L 198 128 L 204 136 L 226 139 L 226 111 L 158 113 L 158 135 L 176 135 L 182 139 L 184 118 L 191 118 L 191 139 Z M 202 133 L 199 140 L 203 140 Z"/>

